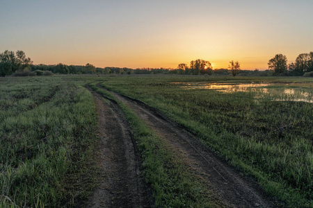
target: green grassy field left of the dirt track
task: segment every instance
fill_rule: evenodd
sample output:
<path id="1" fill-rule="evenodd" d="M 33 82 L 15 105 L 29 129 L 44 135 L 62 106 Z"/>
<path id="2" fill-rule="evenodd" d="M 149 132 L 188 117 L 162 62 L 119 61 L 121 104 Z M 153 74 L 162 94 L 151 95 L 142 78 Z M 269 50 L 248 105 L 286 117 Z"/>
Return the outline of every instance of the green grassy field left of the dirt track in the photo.
<path id="1" fill-rule="evenodd" d="M 78 207 L 97 184 L 93 96 L 61 77 L 2 78 L 0 207 Z"/>

